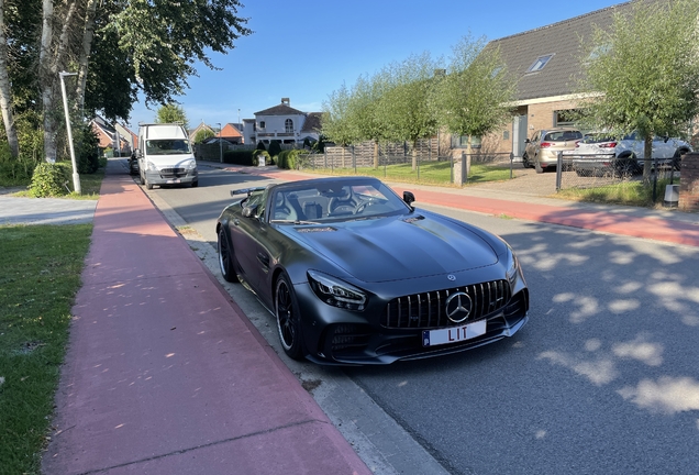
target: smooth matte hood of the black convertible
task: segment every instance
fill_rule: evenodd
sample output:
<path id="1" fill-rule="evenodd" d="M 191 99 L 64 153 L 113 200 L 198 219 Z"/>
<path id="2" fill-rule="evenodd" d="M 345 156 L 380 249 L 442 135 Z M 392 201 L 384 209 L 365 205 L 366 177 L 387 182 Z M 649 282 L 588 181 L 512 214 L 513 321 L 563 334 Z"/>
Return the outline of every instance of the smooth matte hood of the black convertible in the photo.
<path id="1" fill-rule="evenodd" d="M 498 262 L 492 247 L 467 227 L 424 213 L 287 231 L 367 283 L 457 273 Z"/>

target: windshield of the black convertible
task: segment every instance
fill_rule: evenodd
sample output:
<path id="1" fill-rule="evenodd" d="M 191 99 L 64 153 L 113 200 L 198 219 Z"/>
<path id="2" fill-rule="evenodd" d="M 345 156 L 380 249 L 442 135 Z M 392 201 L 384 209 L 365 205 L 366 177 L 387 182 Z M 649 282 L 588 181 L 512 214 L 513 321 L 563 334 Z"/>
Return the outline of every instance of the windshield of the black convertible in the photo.
<path id="1" fill-rule="evenodd" d="M 270 200 L 273 222 L 315 223 L 400 214 L 410 208 L 379 180 L 314 180 L 278 187 Z"/>

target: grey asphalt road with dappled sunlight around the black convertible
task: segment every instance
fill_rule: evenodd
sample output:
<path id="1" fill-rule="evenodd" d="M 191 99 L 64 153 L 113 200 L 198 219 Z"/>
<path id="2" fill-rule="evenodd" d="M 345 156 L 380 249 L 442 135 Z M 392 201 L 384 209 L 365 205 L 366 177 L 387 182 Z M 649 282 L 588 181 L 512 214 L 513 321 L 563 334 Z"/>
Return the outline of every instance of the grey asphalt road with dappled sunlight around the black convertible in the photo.
<path id="1" fill-rule="evenodd" d="M 267 183 L 203 170 L 199 188 L 152 196 L 213 244 L 229 189 L 253 181 Z M 401 432 L 363 427 L 344 402 L 331 419 L 354 421 L 358 432 L 346 437 L 364 441 L 382 473 L 439 470 L 414 470 L 428 454 L 453 474 L 699 473 L 699 250 L 440 211 L 514 247 L 531 289 L 530 323 L 513 339 L 446 357 L 386 367 L 292 366 L 302 382 L 319 385 L 317 399 L 340 386 L 352 400 L 355 389 L 343 386 L 348 376 L 426 453 L 400 462 L 410 441 L 388 445 Z M 255 308 L 254 298 L 240 298 Z M 273 323 L 259 308 L 249 317 L 263 334 Z"/>

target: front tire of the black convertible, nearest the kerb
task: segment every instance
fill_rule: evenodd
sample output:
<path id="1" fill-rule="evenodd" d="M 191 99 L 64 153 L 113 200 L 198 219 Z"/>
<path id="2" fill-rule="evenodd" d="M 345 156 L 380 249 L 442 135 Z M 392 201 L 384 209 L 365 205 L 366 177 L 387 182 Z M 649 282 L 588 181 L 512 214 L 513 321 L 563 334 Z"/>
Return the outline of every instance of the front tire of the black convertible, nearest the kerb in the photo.
<path id="1" fill-rule="evenodd" d="M 303 360 L 301 312 L 286 274 L 280 274 L 275 283 L 275 317 L 284 352 L 291 360 Z"/>

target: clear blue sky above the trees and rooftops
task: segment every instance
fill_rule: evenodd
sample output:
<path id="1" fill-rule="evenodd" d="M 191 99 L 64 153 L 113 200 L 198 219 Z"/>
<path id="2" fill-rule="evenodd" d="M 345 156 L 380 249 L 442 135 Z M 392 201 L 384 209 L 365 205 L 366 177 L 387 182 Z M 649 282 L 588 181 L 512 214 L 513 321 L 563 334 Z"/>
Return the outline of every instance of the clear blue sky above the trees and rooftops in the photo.
<path id="1" fill-rule="evenodd" d="M 289 98 L 322 111 L 330 95 L 412 54 L 447 58 L 464 36 L 497 40 L 622 3 L 622 0 L 242 0 L 249 36 L 228 54 L 210 53 L 219 70 L 195 67 L 176 101 L 189 126 L 253 119 Z M 153 122 L 158 104 L 134 104 L 129 128 Z"/>

